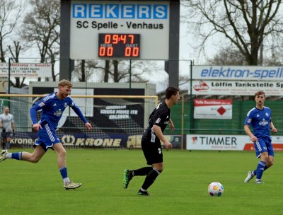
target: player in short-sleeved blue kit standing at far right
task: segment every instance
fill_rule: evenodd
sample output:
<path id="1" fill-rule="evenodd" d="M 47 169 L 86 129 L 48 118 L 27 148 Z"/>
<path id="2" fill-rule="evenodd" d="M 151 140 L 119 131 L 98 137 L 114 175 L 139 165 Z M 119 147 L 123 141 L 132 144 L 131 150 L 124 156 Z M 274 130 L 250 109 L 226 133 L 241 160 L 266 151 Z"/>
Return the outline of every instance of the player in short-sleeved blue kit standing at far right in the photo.
<path id="1" fill-rule="evenodd" d="M 255 93 L 256 106 L 248 112 L 245 120 L 244 129 L 246 134 L 250 136 L 255 146 L 257 158 L 260 158 L 258 166 L 254 171 L 249 171 L 244 182 L 249 182 L 255 175 L 255 183 L 262 184 L 263 172 L 274 163 L 274 152 L 271 143 L 270 129 L 277 133 L 277 129 L 271 121 L 271 110 L 264 106 L 265 93 L 258 91 Z M 253 132 L 249 126 L 253 127 Z"/>

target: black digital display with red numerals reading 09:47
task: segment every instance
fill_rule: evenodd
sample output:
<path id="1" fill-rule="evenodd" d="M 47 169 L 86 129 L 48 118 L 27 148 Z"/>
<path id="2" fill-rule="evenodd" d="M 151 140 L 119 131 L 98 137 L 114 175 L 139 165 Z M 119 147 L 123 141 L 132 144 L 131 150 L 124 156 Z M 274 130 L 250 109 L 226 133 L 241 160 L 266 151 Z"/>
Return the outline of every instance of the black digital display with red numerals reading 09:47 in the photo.
<path id="1" fill-rule="evenodd" d="M 98 57 L 139 57 L 139 34 L 98 34 Z"/>

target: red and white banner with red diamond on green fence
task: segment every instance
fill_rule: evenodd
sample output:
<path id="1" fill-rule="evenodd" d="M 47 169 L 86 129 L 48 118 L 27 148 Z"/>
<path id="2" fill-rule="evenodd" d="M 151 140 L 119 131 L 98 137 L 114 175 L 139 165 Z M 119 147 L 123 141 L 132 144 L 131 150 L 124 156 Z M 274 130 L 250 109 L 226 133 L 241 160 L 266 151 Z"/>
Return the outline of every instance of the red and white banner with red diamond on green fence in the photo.
<path id="1" fill-rule="evenodd" d="M 232 119 L 232 100 L 194 99 L 195 119 Z"/>

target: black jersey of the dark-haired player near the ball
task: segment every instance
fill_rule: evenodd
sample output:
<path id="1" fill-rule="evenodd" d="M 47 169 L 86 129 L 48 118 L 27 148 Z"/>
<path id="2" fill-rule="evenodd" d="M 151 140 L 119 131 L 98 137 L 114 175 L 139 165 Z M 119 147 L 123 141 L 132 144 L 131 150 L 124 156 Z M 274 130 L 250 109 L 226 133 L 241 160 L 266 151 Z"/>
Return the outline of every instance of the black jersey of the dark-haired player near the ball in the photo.
<path id="1" fill-rule="evenodd" d="M 144 132 L 144 137 L 151 135 L 151 129 L 154 124 L 161 127 L 163 132 L 170 120 L 170 109 L 167 107 L 165 102 L 159 103 L 154 111 L 151 112 L 149 116 L 149 124 L 147 125 L 146 131 Z"/>

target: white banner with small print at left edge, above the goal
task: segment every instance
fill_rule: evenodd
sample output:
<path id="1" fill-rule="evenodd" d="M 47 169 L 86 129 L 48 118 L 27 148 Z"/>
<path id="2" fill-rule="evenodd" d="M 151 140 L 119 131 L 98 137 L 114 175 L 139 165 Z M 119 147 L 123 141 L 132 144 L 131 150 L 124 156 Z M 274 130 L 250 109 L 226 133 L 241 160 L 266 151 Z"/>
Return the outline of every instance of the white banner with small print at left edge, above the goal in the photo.
<path id="1" fill-rule="evenodd" d="M 51 64 L 11 63 L 11 77 L 50 77 Z M 8 63 L 0 63 L 0 77 L 8 77 Z"/>

